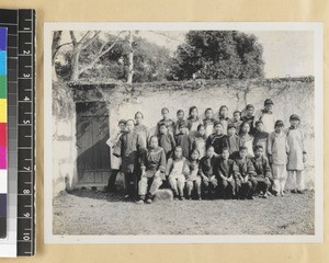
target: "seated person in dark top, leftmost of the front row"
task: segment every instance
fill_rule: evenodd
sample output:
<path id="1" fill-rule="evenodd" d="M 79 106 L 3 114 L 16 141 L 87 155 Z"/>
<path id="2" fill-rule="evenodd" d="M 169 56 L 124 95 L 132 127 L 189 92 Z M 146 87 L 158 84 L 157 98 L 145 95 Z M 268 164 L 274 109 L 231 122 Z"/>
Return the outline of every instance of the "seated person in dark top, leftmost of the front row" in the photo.
<path id="1" fill-rule="evenodd" d="M 149 149 L 141 160 L 141 178 L 138 183 L 139 201 L 138 204 L 152 203 L 155 192 L 161 186 L 161 174 L 166 171 L 166 153 L 159 147 L 158 137 L 150 138 Z"/>

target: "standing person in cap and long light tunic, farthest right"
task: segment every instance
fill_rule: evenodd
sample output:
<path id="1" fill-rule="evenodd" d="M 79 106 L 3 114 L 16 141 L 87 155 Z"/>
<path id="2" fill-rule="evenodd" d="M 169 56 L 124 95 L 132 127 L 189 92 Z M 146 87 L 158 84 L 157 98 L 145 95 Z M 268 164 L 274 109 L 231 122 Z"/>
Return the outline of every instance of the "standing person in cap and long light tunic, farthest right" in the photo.
<path id="1" fill-rule="evenodd" d="M 286 132 L 286 141 L 288 146 L 287 165 L 288 181 L 292 192 L 304 194 L 304 162 L 306 162 L 306 151 L 304 146 L 304 134 L 299 129 L 300 118 L 293 114 L 290 117 L 291 127 Z"/>

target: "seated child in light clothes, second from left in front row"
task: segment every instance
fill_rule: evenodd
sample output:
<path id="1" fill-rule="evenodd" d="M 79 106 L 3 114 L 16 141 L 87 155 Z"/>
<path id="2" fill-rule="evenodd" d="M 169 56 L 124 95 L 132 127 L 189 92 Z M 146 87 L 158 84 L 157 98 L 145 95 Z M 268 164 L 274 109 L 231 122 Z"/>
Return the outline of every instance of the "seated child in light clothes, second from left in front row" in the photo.
<path id="1" fill-rule="evenodd" d="M 189 174 L 189 164 L 182 155 L 182 147 L 177 146 L 172 158 L 169 158 L 166 175 L 173 191 L 174 198 L 184 199 L 185 176 Z"/>

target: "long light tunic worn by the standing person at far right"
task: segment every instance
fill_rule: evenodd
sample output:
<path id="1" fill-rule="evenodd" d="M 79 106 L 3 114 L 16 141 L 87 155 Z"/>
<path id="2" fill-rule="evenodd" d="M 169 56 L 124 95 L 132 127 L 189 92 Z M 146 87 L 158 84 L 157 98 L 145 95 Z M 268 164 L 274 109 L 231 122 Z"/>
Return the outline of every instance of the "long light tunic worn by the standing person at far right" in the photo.
<path id="1" fill-rule="evenodd" d="M 306 151 L 303 132 L 299 128 L 288 128 L 286 130 L 286 141 L 288 146 L 287 171 L 304 170 L 303 153 L 306 153 Z"/>

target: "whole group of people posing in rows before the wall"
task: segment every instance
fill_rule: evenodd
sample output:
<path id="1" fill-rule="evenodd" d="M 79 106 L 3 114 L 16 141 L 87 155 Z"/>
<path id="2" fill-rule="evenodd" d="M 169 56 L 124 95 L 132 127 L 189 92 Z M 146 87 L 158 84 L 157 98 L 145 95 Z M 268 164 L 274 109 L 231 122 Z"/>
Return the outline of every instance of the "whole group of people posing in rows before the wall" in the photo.
<path id="1" fill-rule="evenodd" d="M 196 106 L 177 112 L 161 110 L 155 135 L 143 124 L 144 115 L 120 121 L 120 133 L 107 144 L 112 147 L 112 173 L 107 190 L 115 190 L 116 174 L 125 175 L 126 198 L 151 203 L 160 187 L 170 187 L 175 198 L 249 198 L 257 194 L 284 195 L 287 178 L 293 193 L 304 193 L 306 151 L 300 118 L 290 117 L 290 127 L 275 121 L 273 102 L 254 114 L 248 104 L 245 116 L 220 106 L 219 117 L 205 110 L 201 119 Z"/>

